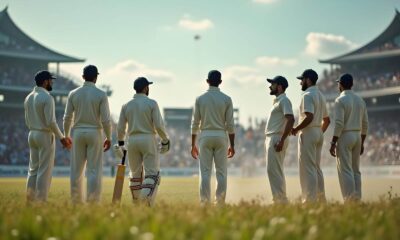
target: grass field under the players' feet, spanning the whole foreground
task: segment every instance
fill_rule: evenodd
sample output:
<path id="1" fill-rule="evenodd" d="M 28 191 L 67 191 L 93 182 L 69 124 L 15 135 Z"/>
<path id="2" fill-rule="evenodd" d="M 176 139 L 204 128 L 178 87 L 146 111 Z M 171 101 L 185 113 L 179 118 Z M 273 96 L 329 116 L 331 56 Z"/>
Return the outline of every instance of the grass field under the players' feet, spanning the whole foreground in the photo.
<path id="1" fill-rule="evenodd" d="M 126 181 L 127 182 L 127 181 Z M 120 207 L 73 206 L 69 181 L 54 178 L 49 202 L 25 206 L 25 179 L 0 178 L 0 239 L 400 239 L 400 179 L 364 179 L 364 202 L 340 202 L 337 178 L 326 179 L 327 204 L 302 205 L 297 178 L 291 204 L 271 205 L 265 178 L 231 178 L 225 207 L 198 204 L 198 178 L 163 178 L 154 208 L 134 206 L 125 187 Z"/>

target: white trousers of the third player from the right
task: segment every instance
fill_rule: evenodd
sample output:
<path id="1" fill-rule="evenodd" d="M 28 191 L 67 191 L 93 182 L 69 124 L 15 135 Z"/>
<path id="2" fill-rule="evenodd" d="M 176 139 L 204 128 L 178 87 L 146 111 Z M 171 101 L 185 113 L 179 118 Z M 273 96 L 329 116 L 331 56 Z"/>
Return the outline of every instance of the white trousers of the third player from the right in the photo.
<path id="1" fill-rule="evenodd" d="M 286 149 L 289 145 L 288 139 L 285 140 L 282 151 L 275 150 L 275 144 L 279 142 L 281 134 L 267 136 L 265 139 L 265 150 L 267 157 L 267 172 L 269 184 L 272 191 L 272 199 L 275 203 L 287 203 L 286 181 L 283 173 L 283 161 Z"/>

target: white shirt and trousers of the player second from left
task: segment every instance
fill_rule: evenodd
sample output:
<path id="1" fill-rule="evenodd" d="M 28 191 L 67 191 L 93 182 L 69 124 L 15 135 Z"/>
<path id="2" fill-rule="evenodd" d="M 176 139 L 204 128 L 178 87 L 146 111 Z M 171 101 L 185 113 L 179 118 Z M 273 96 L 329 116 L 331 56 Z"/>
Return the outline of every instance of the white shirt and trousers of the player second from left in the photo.
<path id="1" fill-rule="evenodd" d="M 86 165 L 87 200 L 99 201 L 103 171 L 103 134 L 111 140 L 111 118 L 108 98 L 93 82 L 68 95 L 64 113 L 65 136 L 70 135 L 73 123 L 71 159 L 71 197 L 73 202 L 84 200 L 83 171 Z"/>

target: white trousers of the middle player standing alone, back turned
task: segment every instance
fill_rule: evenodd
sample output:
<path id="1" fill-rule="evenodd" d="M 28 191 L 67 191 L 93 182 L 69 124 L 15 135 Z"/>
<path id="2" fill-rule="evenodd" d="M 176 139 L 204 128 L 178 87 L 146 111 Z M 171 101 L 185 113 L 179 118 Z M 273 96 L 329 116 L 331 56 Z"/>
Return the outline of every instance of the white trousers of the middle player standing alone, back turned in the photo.
<path id="1" fill-rule="evenodd" d="M 227 188 L 228 138 L 219 136 L 201 136 L 199 139 L 200 158 L 200 201 L 209 203 L 211 200 L 212 164 L 215 164 L 217 176 L 217 203 L 224 203 Z"/>

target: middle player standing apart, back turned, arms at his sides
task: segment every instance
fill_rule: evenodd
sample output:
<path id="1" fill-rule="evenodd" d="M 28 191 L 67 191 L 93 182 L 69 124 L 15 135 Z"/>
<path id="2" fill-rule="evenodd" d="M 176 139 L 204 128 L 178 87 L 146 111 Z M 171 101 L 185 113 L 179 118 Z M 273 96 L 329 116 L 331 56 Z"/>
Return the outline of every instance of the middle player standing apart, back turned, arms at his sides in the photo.
<path id="1" fill-rule="evenodd" d="M 196 99 L 194 107 L 191 154 L 194 159 L 200 158 L 200 203 L 210 203 L 214 162 L 217 176 L 216 204 L 222 205 L 225 203 L 227 188 L 227 158 L 235 155 L 233 105 L 231 98 L 218 87 L 222 83 L 219 71 L 210 71 L 207 83 L 208 91 Z M 198 149 L 196 138 L 199 132 Z"/>

